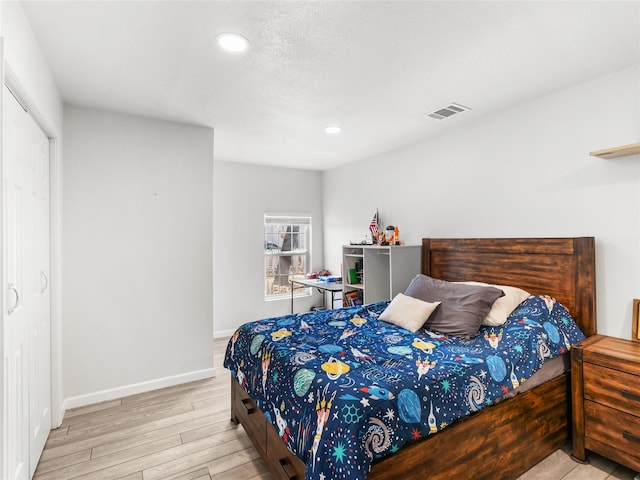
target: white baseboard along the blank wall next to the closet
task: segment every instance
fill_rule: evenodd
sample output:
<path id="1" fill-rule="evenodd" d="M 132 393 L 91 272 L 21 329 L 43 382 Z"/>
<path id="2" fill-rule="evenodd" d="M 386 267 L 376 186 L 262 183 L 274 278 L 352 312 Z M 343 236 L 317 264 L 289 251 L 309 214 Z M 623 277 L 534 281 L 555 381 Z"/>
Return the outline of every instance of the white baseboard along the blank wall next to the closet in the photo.
<path id="1" fill-rule="evenodd" d="M 137 393 L 150 392 L 151 390 L 157 390 L 159 388 L 172 387 L 174 385 L 194 382 L 196 380 L 203 380 L 205 378 L 212 378 L 215 376 L 215 368 L 206 368 L 204 370 L 196 370 L 194 372 L 173 375 L 171 377 L 157 378 L 146 382 L 101 390 L 99 392 L 87 393 L 85 395 L 78 395 L 77 397 L 68 397 L 62 402 L 62 416 L 64 416 L 64 413 L 70 408 L 84 407 L 85 405 L 92 405 L 94 403 L 127 397 Z"/>

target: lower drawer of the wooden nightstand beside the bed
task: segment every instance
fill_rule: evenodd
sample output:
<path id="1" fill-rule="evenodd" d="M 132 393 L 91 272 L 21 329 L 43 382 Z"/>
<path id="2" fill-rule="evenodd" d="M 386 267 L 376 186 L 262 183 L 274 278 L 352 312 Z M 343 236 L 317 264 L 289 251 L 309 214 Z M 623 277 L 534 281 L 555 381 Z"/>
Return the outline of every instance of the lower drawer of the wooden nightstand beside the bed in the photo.
<path id="1" fill-rule="evenodd" d="M 640 459 L 640 417 L 584 402 L 585 436 Z"/>

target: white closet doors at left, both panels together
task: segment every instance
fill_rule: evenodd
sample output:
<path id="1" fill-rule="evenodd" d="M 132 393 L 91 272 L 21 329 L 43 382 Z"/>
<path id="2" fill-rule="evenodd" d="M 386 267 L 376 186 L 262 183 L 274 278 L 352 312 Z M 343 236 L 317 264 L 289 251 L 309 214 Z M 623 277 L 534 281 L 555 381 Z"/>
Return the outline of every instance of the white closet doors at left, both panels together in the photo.
<path id="1" fill-rule="evenodd" d="M 51 428 L 49 142 L 3 92 L 2 478 L 31 478 Z"/>

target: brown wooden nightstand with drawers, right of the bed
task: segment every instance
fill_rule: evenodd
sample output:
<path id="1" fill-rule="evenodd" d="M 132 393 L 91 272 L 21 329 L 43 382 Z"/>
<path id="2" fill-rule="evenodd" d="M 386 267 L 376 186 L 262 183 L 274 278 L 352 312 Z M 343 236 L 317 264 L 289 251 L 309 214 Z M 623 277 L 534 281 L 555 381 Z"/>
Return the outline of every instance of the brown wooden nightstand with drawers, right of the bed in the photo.
<path id="1" fill-rule="evenodd" d="M 573 456 L 640 471 L 640 343 L 594 335 L 571 352 Z"/>

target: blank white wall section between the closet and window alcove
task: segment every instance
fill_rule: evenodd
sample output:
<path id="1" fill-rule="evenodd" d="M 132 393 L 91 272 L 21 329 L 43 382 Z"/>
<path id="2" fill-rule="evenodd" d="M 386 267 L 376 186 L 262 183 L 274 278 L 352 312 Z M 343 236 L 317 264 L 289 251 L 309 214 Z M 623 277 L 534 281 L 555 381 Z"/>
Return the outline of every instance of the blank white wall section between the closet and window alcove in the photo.
<path id="1" fill-rule="evenodd" d="M 211 376 L 213 130 L 65 107 L 66 406 Z"/>

